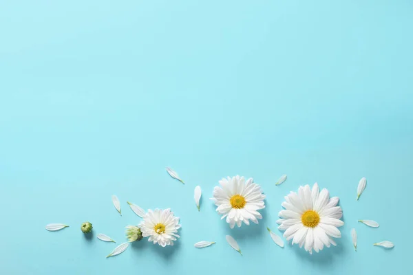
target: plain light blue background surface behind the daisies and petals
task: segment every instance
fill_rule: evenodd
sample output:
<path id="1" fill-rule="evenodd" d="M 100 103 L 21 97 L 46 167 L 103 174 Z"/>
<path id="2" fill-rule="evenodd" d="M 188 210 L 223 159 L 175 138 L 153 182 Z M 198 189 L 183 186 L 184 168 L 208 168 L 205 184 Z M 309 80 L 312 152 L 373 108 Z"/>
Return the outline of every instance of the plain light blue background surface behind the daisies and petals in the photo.
<path id="1" fill-rule="evenodd" d="M 0 273 L 413 272 L 412 12 L 408 0 L 1 1 Z M 237 174 L 267 207 L 230 230 L 209 197 Z M 277 247 L 266 226 L 277 232 L 284 195 L 315 181 L 341 199 L 339 246 Z M 176 246 L 141 241 L 105 259 L 116 245 L 96 233 L 119 244 L 140 221 L 127 200 L 171 207 Z M 201 240 L 217 243 L 195 250 Z M 395 248 L 372 245 L 383 240 Z"/>

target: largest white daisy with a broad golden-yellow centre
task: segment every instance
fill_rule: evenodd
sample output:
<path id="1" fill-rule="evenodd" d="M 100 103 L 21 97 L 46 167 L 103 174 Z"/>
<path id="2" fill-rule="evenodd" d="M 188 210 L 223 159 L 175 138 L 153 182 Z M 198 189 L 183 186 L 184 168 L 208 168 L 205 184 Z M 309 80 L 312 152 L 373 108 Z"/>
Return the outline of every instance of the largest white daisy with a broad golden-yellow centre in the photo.
<path id="1" fill-rule="evenodd" d="M 341 207 L 337 206 L 338 197 L 332 197 L 328 190 L 324 188 L 319 192 L 319 186 L 314 184 L 313 190 L 310 186 L 300 186 L 298 194 L 290 192 L 285 197 L 286 201 L 282 206 L 286 210 L 279 212 L 277 221 L 279 230 L 286 230 L 284 237 L 293 244 L 299 244 L 301 248 L 310 254 L 323 250 L 324 245 L 330 248 L 330 245 L 336 245 L 332 238 L 341 238 L 338 227 L 344 225 L 341 221 L 343 212 Z"/>

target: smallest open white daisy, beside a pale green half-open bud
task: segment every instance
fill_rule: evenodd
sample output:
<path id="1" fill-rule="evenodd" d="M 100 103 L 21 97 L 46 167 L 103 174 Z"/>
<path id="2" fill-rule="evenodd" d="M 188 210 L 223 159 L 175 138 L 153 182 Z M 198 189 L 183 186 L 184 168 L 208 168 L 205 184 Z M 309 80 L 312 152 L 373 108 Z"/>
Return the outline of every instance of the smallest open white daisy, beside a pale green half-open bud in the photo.
<path id="1" fill-rule="evenodd" d="M 153 241 L 153 244 L 158 243 L 165 248 L 167 245 L 173 245 L 173 241 L 179 238 L 176 233 L 181 225 L 178 223 L 179 218 L 173 215 L 170 208 L 154 211 L 149 209 L 139 227 L 142 236 L 149 236 L 148 241 Z"/>

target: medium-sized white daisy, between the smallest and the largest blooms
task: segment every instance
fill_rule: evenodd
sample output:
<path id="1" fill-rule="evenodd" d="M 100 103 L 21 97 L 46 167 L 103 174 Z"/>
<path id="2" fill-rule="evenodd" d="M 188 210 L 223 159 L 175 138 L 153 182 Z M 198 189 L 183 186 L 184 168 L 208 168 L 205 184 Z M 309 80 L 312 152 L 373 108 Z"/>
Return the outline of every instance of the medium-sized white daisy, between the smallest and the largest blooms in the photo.
<path id="1" fill-rule="evenodd" d="M 253 179 L 244 177 L 228 177 L 220 180 L 220 186 L 213 188 L 213 198 L 218 213 L 222 218 L 226 217 L 226 222 L 230 228 L 238 227 L 242 221 L 249 225 L 249 220 L 258 223 L 257 219 L 262 219 L 262 215 L 257 211 L 265 208 L 265 195 L 258 184 L 253 183 Z"/>

